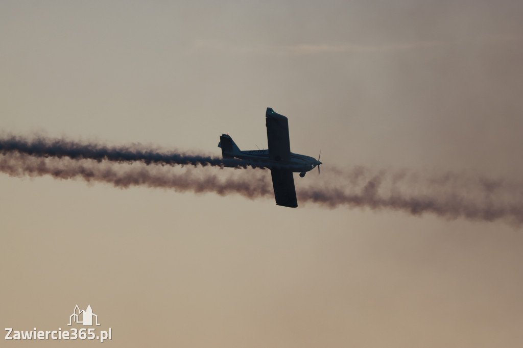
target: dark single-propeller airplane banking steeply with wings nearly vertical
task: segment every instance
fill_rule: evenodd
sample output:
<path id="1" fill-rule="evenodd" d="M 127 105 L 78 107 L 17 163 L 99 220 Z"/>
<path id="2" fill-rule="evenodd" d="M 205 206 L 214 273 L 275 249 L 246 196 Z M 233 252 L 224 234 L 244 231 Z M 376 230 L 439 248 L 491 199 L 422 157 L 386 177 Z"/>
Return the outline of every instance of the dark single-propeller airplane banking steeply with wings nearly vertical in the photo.
<path id="1" fill-rule="evenodd" d="M 303 178 L 306 172 L 317 166 L 320 174 L 321 151 L 317 160 L 314 157 L 293 154 L 290 148 L 287 118 L 267 108 L 265 121 L 269 144 L 267 150 L 242 151 L 228 134 L 220 135 L 218 147 L 222 149 L 224 167 L 236 167 L 237 163 L 231 160 L 239 158 L 253 167 L 270 169 L 276 204 L 295 208 L 298 206 L 298 200 L 292 173 L 298 172 Z"/>

